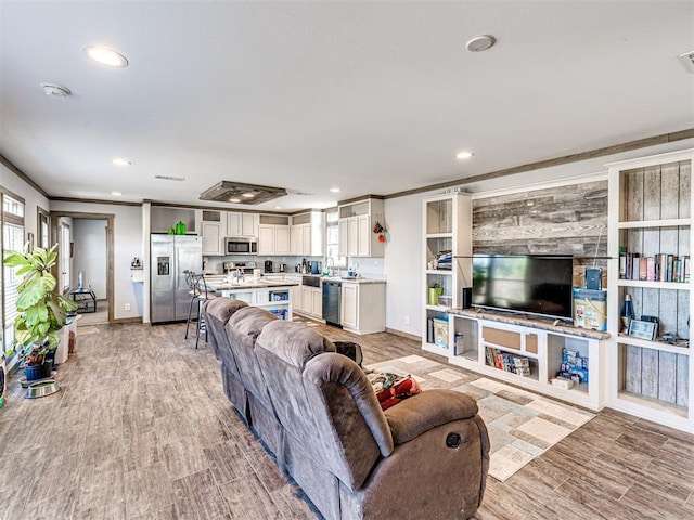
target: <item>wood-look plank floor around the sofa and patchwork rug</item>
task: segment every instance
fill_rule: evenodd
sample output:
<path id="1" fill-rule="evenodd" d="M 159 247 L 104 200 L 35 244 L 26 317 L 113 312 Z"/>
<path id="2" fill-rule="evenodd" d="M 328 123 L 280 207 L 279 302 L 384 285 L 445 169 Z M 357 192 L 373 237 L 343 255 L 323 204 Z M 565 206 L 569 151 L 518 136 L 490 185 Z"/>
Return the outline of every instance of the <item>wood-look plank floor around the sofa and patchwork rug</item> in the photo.
<path id="1" fill-rule="evenodd" d="M 428 356 L 389 334 L 320 327 L 361 343 L 367 364 Z M 183 329 L 90 326 L 59 369 L 61 392 L 26 400 L 10 380 L 0 518 L 317 518 L 232 412 L 209 348 Z M 600 413 L 506 482 L 489 478 L 478 518 L 694 518 L 694 435 Z"/>

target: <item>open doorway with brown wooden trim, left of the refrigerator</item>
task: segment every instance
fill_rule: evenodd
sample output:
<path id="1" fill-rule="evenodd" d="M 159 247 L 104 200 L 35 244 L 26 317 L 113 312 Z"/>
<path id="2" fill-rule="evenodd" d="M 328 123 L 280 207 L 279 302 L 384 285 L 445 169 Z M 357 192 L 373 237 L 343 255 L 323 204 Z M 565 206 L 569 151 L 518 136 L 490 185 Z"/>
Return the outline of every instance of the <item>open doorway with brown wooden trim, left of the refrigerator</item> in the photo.
<path id="1" fill-rule="evenodd" d="M 52 211 L 52 242 L 59 244 L 56 277 L 63 291 L 80 282 L 94 291 L 97 312 L 83 313 L 80 324 L 114 322 L 114 214 Z M 81 275 L 80 275 L 81 273 Z M 104 313 L 104 303 L 107 312 Z"/>

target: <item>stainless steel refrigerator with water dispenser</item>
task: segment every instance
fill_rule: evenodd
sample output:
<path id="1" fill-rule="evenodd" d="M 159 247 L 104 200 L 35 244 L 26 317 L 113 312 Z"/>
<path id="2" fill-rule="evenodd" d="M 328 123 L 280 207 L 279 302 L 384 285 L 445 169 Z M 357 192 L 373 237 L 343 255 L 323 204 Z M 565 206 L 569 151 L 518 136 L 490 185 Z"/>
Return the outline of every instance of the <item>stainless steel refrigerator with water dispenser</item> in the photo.
<path id="1" fill-rule="evenodd" d="M 203 269 L 203 242 L 196 235 L 150 235 L 152 265 L 150 321 L 188 320 L 191 302 L 185 271 Z"/>

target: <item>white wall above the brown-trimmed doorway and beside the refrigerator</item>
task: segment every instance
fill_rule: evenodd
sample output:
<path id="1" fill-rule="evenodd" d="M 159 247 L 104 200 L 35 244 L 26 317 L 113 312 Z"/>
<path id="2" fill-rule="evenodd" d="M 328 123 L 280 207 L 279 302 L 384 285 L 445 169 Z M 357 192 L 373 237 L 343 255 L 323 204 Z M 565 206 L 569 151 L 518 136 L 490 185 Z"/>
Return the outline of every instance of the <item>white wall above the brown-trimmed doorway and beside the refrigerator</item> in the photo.
<path id="1" fill-rule="evenodd" d="M 114 318 L 141 317 L 143 315 L 143 284 L 131 282 L 130 262 L 133 257 L 144 258 L 142 208 L 140 206 L 52 202 L 50 210 L 114 216 Z M 88 282 L 87 278 L 85 281 Z M 125 310 L 126 304 L 130 306 L 130 311 Z"/>

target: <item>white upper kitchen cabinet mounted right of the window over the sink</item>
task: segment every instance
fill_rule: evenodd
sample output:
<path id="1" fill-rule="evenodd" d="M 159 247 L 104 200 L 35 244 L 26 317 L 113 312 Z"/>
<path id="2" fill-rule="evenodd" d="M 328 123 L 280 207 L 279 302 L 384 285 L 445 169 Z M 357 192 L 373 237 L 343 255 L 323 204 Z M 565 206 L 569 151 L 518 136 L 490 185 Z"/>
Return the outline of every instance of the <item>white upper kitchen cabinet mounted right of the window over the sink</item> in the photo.
<path id="1" fill-rule="evenodd" d="M 383 257 L 384 242 L 374 233 L 376 222 L 385 226 L 383 200 L 369 198 L 338 207 L 339 253 L 348 257 Z M 383 235 L 385 236 L 385 235 Z"/>

